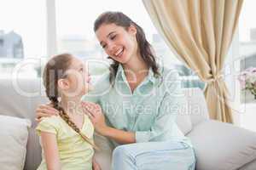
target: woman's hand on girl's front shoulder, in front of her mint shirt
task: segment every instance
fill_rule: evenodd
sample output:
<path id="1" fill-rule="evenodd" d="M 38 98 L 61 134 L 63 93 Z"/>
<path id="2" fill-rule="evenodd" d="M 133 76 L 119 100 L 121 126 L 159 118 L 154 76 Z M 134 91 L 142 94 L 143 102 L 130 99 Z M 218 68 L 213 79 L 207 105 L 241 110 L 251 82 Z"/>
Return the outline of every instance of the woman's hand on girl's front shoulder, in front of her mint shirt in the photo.
<path id="1" fill-rule="evenodd" d="M 96 132 L 103 135 L 104 130 L 108 126 L 106 125 L 101 106 L 92 102 L 82 102 L 82 108 L 84 113 L 89 116 Z"/>

